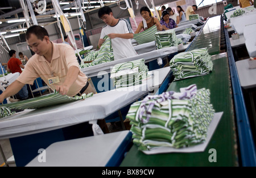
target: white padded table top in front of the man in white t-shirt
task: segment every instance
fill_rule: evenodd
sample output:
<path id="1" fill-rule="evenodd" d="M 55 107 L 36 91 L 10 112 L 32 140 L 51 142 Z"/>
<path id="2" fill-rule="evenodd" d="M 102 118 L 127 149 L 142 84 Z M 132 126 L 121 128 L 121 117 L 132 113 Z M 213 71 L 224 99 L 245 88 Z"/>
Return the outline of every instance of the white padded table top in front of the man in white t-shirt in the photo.
<path id="1" fill-rule="evenodd" d="M 158 57 L 160 58 L 167 57 L 175 52 L 177 52 L 177 47 L 168 47 L 168 48 L 158 49 L 158 50 L 142 53 L 140 55 L 136 55 L 133 57 L 126 57 L 123 59 L 110 61 L 104 64 L 98 64 L 92 67 L 82 68 L 81 71 L 84 72 L 88 77 L 94 77 L 94 76 L 98 76 L 99 72 L 110 73 L 110 70 L 112 69 L 112 67 L 114 67 L 115 64 L 125 63 L 128 61 L 133 61 L 137 59 L 144 59 L 145 63 L 148 63 L 152 60 L 158 59 Z"/>

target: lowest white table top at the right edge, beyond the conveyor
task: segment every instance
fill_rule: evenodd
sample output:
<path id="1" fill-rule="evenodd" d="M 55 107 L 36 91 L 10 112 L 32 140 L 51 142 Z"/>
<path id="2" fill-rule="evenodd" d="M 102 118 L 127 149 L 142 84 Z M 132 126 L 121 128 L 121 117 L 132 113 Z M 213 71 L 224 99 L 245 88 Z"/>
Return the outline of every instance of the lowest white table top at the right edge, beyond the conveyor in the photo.
<path id="1" fill-rule="evenodd" d="M 249 89 L 256 87 L 256 68 L 249 69 L 247 59 L 237 61 L 236 66 L 242 88 Z"/>

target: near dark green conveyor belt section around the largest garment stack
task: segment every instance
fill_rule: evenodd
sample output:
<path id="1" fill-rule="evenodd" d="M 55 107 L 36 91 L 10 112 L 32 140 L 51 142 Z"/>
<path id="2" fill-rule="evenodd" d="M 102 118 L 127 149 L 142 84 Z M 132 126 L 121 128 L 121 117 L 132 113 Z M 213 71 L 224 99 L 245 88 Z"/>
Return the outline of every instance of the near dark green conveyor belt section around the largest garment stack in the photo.
<path id="1" fill-rule="evenodd" d="M 133 145 L 121 166 L 237 166 L 238 154 L 234 111 L 227 57 L 213 60 L 213 71 L 206 76 L 187 78 L 172 82 L 168 91 L 196 84 L 197 88 L 210 89 L 210 101 L 216 112 L 224 111 L 212 139 L 204 152 L 190 154 L 170 153 L 146 155 Z M 208 151 L 217 151 L 217 162 L 211 163 Z"/>

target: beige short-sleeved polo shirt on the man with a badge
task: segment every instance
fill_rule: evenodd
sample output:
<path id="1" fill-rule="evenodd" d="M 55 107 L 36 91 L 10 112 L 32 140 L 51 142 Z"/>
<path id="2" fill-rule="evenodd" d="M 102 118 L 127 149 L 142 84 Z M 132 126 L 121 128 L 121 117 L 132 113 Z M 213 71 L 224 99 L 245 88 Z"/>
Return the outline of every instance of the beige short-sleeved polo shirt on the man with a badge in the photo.
<path id="1" fill-rule="evenodd" d="M 28 60 L 24 71 L 17 78 L 23 84 L 34 84 L 34 80 L 41 77 L 44 82 L 55 90 L 57 85 L 62 85 L 65 81 L 68 69 L 71 66 L 79 68 L 79 63 L 76 59 L 75 51 L 71 45 L 64 43 L 52 43 L 53 54 L 52 61 L 49 63 L 44 56 L 34 55 Z M 49 84 L 48 79 L 52 77 L 59 77 L 60 82 L 56 84 Z M 75 96 L 85 86 L 87 78 L 83 72 L 79 72 L 79 76 L 74 84 L 69 89 L 67 96 Z"/>

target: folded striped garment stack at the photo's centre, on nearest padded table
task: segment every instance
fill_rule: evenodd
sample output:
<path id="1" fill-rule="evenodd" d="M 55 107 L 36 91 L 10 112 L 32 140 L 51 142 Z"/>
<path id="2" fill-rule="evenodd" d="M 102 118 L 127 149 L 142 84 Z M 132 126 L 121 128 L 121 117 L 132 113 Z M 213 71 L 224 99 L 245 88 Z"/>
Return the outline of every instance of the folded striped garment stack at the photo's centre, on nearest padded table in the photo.
<path id="1" fill-rule="evenodd" d="M 115 88 L 142 84 L 147 78 L 148 68 L 144 59 L 120 63 L 112 68 L 110 78 L 113 78 Z"/>

